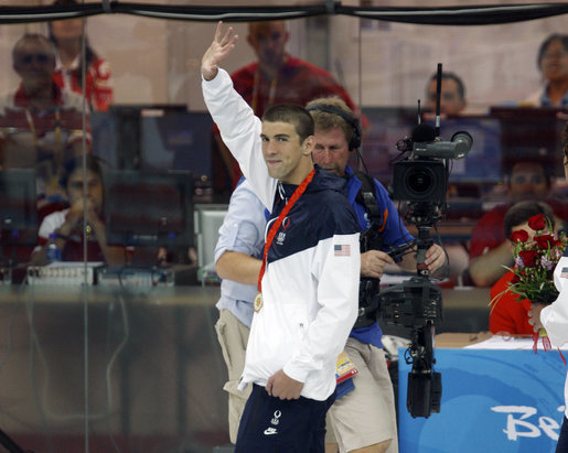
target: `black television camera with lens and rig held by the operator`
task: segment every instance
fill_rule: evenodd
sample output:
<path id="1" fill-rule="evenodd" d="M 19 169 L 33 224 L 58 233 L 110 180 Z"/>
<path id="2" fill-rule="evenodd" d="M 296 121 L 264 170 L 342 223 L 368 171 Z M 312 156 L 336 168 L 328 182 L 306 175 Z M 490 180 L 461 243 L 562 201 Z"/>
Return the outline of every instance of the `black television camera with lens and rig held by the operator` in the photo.
<path id="1" fill-rule="evenodd" d="M 435 328 L 442 315 L 442 296 L 438 285 L 430 281 L 425 265 L 426 250 L 433 240 L 430 229 L 443 218 L 449 165 L 452 159 L 462 159 L 470 151 L 473 139 L 468 132 L 457 132 L 450 141 L 439 136 L 439 96 L 441 91 L 441 65 L 438 65 L 436 128 L 419 122 L 410 138 L 400 140 L 397 148 L 404 158 L 394 164 L 390 195 L 407 202 L 406 222 L 416 225 L 418 237 L 389 255 L 399 257 L 409 250 L 417 254 L 417 274 L 400 283 L 382 288 L 377 299 L 384 321 L 410 331 L 411 344 L 405 359 L 412 365 L 408 374 L 407 409 L 410 414 L 428 418 L 440 411 L 441 375 L 433 370 Z"/>

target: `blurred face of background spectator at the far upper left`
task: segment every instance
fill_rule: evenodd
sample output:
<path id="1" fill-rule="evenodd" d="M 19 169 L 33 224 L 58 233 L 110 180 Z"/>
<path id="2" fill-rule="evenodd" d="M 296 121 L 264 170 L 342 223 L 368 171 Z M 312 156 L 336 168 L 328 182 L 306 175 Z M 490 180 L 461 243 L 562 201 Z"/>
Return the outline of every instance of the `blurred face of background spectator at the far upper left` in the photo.
<path id="1" fill-rule="evenodd" d="M 55 57 L 47 43 L 31 40 L 20 45 L 13 67 L 22 78 L 24 89 L 33 90 L 39 86 L 51 85 Z"/>

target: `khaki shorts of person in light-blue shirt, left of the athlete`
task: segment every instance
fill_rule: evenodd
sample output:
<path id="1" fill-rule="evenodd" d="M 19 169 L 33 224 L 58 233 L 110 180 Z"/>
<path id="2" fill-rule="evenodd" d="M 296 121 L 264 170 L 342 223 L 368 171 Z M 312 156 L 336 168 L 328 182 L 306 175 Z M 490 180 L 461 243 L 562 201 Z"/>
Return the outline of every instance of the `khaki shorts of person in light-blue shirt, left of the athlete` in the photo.
<path id="1" fill-rule="evenodd" d="M 236 443 L 238 423 L 253 388 L 250 385 L 243 391 L 237 388 L 245 369 L 245 354 L 250 330 L 228 310 L 221 310 L 215 331 L 217 331 L 228 371 L 228 380 L 223 386 L 223 390 L 228 392 L 228 433 L 231 442 Z"/>

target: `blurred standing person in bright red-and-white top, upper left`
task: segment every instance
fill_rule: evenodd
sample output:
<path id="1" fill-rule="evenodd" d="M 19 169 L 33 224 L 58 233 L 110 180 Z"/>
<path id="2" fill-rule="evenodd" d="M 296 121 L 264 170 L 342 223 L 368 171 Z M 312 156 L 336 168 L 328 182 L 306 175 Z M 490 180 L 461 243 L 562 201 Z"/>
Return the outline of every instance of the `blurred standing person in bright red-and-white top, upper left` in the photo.
<path id="1" fill-rule="evenodd" d="M 78 4 L 76 0 L 55 0 L 53 6 Z M 49 24 L 50 40 L 57 50 L 53 78 L 63 89 L 83 94 L 82 72 L 85 64 L 85 94 L 93 110 L 108 110 L 112 104 L 110 65 L 90 47 L 85 34 L 84 19 L 66 19 Z M 85 37 L 85 62 L 82 61 L 82 41 Z"/>

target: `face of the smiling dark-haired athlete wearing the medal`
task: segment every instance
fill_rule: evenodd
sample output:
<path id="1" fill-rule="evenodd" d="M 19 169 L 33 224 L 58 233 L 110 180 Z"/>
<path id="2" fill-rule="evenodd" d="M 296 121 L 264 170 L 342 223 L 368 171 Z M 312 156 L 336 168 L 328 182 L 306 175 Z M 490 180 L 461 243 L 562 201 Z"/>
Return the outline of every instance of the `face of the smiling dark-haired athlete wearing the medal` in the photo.
<path id="1" fill-rule="evenodd" d="M 296 127 L 289 122 L 262 121 L 262 155 L 270 176 L 289 183 L 300 184 L 306 176 L 300 161 L 312 151 L 313 138 L 300 143 Z"/>

